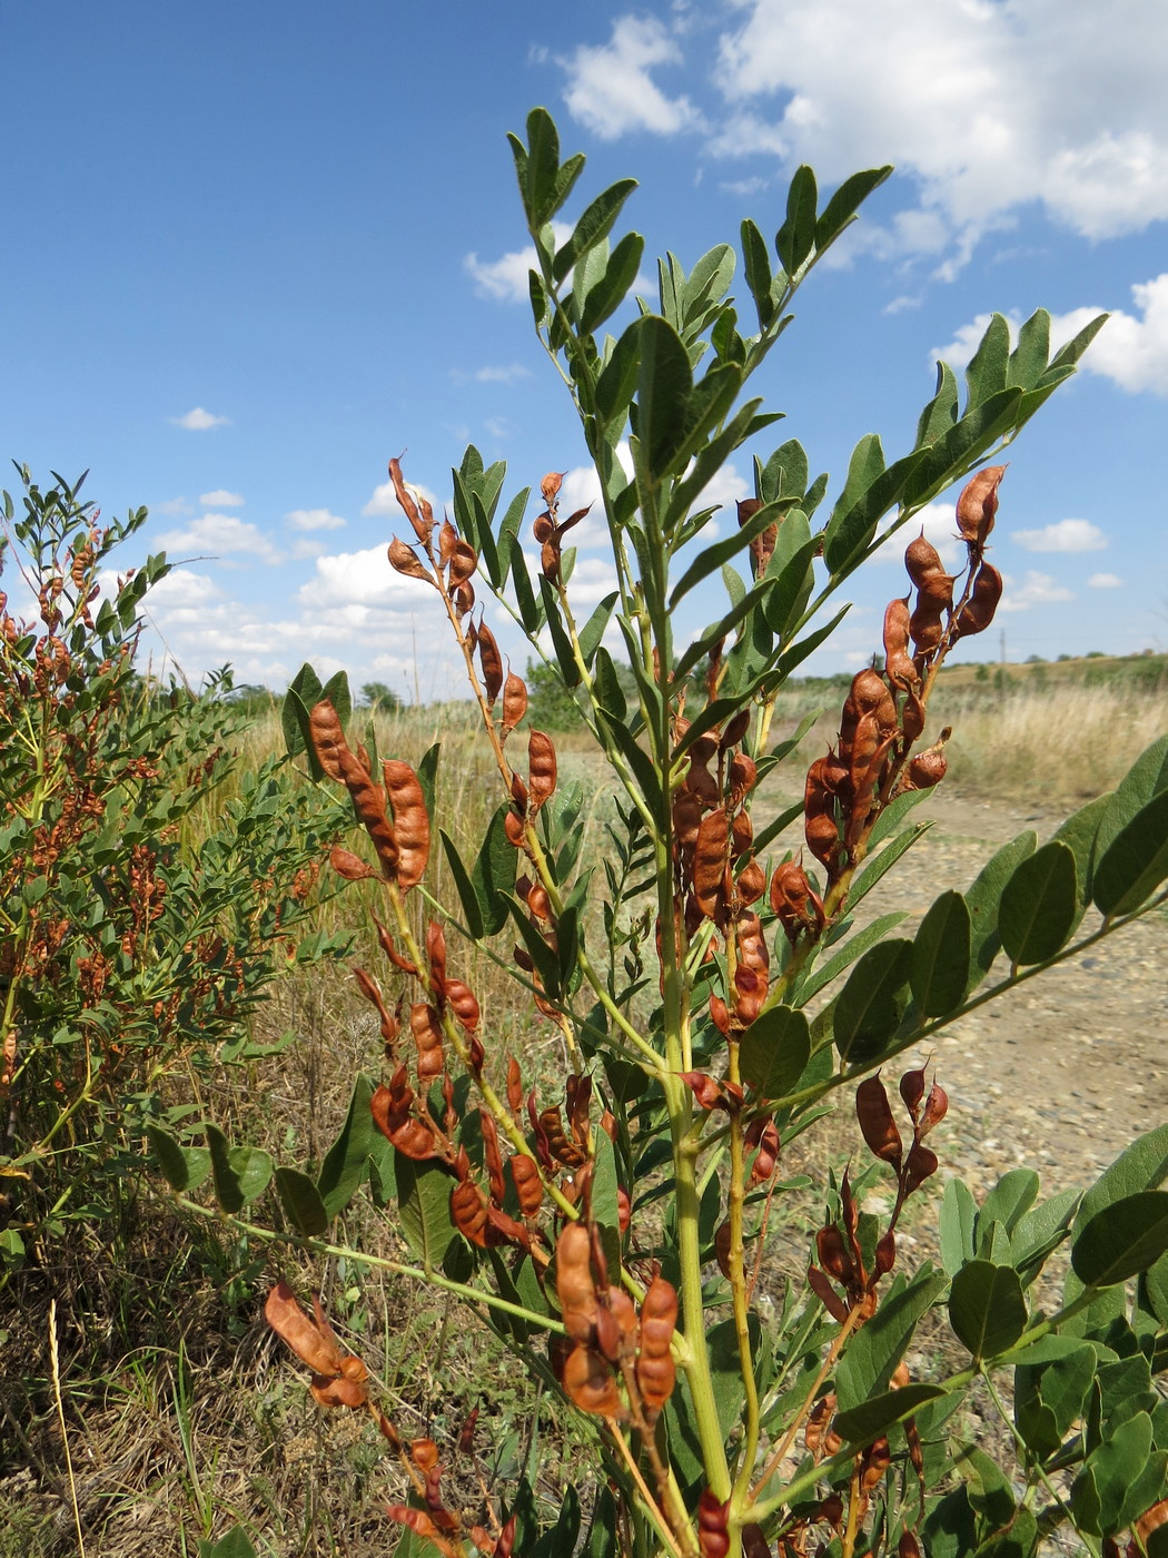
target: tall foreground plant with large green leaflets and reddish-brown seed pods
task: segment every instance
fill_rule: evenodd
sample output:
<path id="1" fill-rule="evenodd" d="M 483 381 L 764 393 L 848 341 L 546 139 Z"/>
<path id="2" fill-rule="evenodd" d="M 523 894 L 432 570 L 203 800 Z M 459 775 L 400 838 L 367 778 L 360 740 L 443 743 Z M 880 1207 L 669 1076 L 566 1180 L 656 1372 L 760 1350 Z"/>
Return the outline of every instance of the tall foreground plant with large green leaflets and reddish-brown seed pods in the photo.
<path id="1" fill-rule="evenodd" d="M 410 765 L 350 745 L 336 698 L 302 671 L 291 746 L 347 791 L 369 837 L 363 855 L 332 860 L 377 904 L 385 968 L 357 978 L 385 1067 L 355 1078 L 321 1165 L 276 1167 L 243 1144 L 232 1156 L 207 1123 L 202 1142 L 195 1126 L 157 1130 L 160 1167 L 188 1211 L 290 1257 L 366 1260 L 458 1298 L 511 1349 L 533 1401 L 548 1391 L 573 1415 L 581 1447 L 562 1496 L 539 1497 L 526 1477 L 491 1486 L 473 1412 L 441 1443 L 406 1432 L 319 1298 L 308 1312 L 290 1282 L 274 1285 L 268 1323 L 316 1402 L 368 1413 L 388 1446 L 399 1553 L 1023 1558 L 1067 1528 L 1095 1553 L 1128 1542 L 1159 1555 L 1168 1126 L 1085 1195 L 1042 1201 L 1028 1170 L 981 1206 L 950 1184 L 942 1265 L 913 1270 L 897 1229 L 938 1170 L 948 1100 L 931 1070 L 899 1073 L 897 1058 L 1163 905 L 1168 738 L 1054 838 L 1023 834 L 966 893 L 941 894 L 913 935 L 899 933 L 902 916 L 857 913 L 920 837 L 914 809 L 944 777 L 948 732 L 920 746 L 938 671 L 1001 597 L 987 548 L 1004 467 L 989 461 L 1075 371 L 1099 321 L 1051 357 L 1043 312 L 1014 347 L 994 316 L 964 397 L 941 366 L 911 450 L 888 464 L 878 438 L 861 439 L 824 517 L 827 477 L 783 442 L 755 458 L 737 531 L 709 541 L 709 483 L 774 421 L 743 400 L 746 382 L 888 170 L 855 174 L 821 206 L 800 168 L 772 246 L 743 224 L 741 308 L 729 246 L 688 274 L 668 256 L 656 310 L 601 340 L 643 257 L 635 234 L 609 241 L 632 181 L 561 237 L 553 218 L 584 159 L 561 162 L 539 109 L 512 151 L 536 330 L 596 467 L 614 589 L 575 614 L 570 541 L 584 516 L 561 514 L 558 475 L 540 483 L 533 570 L 520 542 L 529 494 L 503 503 L 500 464 L 467 450 L 439 520 L 391 461 L 411 534 L 391 542 L 389 562 L 434 592 L 463 650 L 497 810 L 463 858 L 442 826 L 439 753 Z M 966 556 L 950 576 L 911 520 L 956 481 Z M 800 771 L 800 801 L 758 815 L 760 781 L 802 735 L 774 729 L 779 690 L 838 626 L 841 586 L 902 527 L 906 595 L 888 606 L 881 654 L 850 681 L 836 740 Z M 677 608 L 718 580 L 716 615 L 681 640 Z M 618 796 L 598 851 L 581 852 L 579 796 L 526 720 L 528 687 L 505 671 L 483 594 L 581 704 Z M 776 843 L 791 824 L 794 854 Z M 453 883 L 441 904 L 427 885 L 439 854 Z M 562 1087 L 533 1086 L 497 1041 L 469 944 L 509 969 L 531 1025 L 558 1035 Z M 857 1156 L 811 1187 L 807 1240 L 791 1207 L 808 1187 L 785 1176 L 783 1153 L 844 1089 Z M 201 1195 L 206 1176 L 213 1193 Z M 877 1186 L 881 1214 L 864 1209 Z M 358 1195 L 399 1229 L 400 1260 L 332 1242 Z M 805 1278 L 765 1292 L 776 1246 L 799 1251 Z M 1036 1282 L 1056 1251 L 1070 1270 L 1043 1312 Z M 906 1359 L 934 1313 L 958 1363 L 923 1377 Z M 973 1390 L 1004 1424 L 1001 1460 L 966 1436 Z M 249 1546 L 241 1530 L 226 1541 Z"/>

